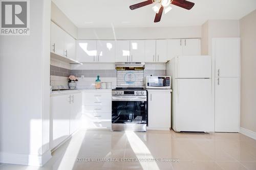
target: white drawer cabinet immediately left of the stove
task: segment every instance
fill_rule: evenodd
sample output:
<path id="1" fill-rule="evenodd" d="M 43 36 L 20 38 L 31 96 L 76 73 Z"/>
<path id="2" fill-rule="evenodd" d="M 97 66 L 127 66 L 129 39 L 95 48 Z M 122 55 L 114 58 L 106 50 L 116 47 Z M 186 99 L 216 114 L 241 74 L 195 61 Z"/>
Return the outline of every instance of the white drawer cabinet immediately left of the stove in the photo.
<path id="1" fill-rule="evenodd" d="M 83 91 L 84 128 L 111 127 L 112 91 L 85 90 Z"/>

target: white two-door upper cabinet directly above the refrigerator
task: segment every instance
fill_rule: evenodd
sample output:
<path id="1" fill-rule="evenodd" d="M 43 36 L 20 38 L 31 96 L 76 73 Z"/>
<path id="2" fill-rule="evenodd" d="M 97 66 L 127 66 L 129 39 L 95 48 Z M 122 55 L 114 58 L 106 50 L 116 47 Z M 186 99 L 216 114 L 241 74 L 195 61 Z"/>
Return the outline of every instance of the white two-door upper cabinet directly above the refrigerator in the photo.
<path id="1" fill-rule="evenodd" d="M 177 56 L 197 56 L 201 55 L 200 39 L 168 39 L 167 40 L 167 60 Z"/>

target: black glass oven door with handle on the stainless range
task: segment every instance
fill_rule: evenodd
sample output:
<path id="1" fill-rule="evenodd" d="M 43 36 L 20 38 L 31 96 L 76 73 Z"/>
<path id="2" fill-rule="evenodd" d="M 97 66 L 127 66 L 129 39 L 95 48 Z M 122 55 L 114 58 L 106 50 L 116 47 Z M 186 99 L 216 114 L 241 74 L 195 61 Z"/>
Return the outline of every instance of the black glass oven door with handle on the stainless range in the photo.
<path id="1" fill-rule="evenodd" d="M 147 124 L 146 96 L 112 96 L 112 124 Z"/>

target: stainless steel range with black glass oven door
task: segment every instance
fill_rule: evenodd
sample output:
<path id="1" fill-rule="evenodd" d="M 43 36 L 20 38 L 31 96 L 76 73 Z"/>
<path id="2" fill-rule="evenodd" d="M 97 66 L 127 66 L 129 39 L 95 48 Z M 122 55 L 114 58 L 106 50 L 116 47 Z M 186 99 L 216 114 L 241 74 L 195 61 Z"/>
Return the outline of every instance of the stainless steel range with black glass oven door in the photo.
<path id="1" fill-rule="evenodd" d="M 112 130 L 146 131 L 147 92 L 143 89 L 112 90 Z"/>

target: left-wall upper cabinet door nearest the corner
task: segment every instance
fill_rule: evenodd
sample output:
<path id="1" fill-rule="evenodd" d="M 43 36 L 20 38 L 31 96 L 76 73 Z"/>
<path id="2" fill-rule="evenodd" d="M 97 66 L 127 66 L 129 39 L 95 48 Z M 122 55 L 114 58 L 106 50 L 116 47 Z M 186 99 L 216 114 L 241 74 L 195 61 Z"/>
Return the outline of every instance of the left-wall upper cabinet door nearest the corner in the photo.
<path id="1" fill-rule="evenodd" d="M 76 40 L 69 34 L 65 34 L 65 57 L 76 60 Z"/>

